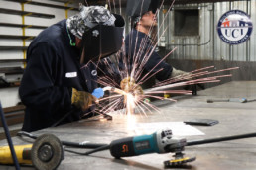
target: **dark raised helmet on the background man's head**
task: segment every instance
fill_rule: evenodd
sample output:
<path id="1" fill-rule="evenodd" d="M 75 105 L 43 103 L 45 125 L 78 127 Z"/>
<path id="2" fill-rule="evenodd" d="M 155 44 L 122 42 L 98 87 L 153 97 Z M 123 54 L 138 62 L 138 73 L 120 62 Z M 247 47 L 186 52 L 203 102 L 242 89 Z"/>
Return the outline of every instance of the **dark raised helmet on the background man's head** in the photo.
<path id="1" fill-rule="evenodd" d="M 131 27 L 134 28 L 146 12 L 152 11 L 155 14 L 159 6 L 159 0 L 128 0 L 126 15 L 131 18 Z"/>

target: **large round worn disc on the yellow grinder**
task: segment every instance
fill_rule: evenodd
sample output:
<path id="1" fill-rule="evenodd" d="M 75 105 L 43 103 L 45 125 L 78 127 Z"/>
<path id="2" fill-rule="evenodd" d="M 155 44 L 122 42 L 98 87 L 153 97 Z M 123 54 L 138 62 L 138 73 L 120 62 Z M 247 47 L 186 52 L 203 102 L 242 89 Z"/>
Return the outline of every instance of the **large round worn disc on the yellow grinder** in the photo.
<path id="1" fill-rule="evenodd" d="M 34 142 L 31 149 L 31 160 L 36 169 L 57 169 L 63 159 L 62 143 L 55 135 L 43 134 Z"/>

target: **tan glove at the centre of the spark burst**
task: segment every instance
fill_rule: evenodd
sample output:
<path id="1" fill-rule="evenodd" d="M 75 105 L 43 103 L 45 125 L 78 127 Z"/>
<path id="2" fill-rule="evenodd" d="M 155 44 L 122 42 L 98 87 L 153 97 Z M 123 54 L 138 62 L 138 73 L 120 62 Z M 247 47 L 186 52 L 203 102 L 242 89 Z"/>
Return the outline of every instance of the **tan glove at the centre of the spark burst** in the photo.
<path id="1" fill-rule="evenodd" d="M 136 84 L 135 80 L 132 77 L 124 78 L 120 83 L 120 87 L 123 91 L 127 93 L 133 93 L 134 95 L 143 94 L 141 86 Z"/>

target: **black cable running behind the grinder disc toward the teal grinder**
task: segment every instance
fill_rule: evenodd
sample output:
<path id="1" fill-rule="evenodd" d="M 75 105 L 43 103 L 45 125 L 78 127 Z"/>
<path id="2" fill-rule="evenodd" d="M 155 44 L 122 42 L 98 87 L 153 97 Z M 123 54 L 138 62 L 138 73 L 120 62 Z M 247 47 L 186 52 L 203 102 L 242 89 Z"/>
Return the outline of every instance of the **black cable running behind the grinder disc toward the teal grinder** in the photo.
<path id="1" fill-rule="evenodd" d="M 29 137 L 32 139 L 37 139 L 38 136 L 35 134 L 31 134 L 29 132 L 25 131 L 19 131 L 17 133 L 17 136 L 19 137 Z M 87 143 L 87 142 L 81 142 L 81 143 L 76 143 L 76 142 L 69 142 L 69 141 L 61 141 L 63 145 L 69 146 L 69 147 L 75 147 L 75 148 L 99 148 L 102 146 L 106 146 L 107 144 L 100 144 L 100 143 Z"/>

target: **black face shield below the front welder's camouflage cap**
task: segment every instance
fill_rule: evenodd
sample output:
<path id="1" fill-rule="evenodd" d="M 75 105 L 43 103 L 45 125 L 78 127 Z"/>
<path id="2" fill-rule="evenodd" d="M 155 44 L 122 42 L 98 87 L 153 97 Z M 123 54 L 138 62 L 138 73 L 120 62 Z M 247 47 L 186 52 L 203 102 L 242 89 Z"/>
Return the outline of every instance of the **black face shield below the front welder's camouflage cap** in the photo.
<path id="1" fill-rule="evenodd" d="M 82 36 L 81 63 L 98 61 L 120 50 L 123 27 L 97 25 Z"/>

